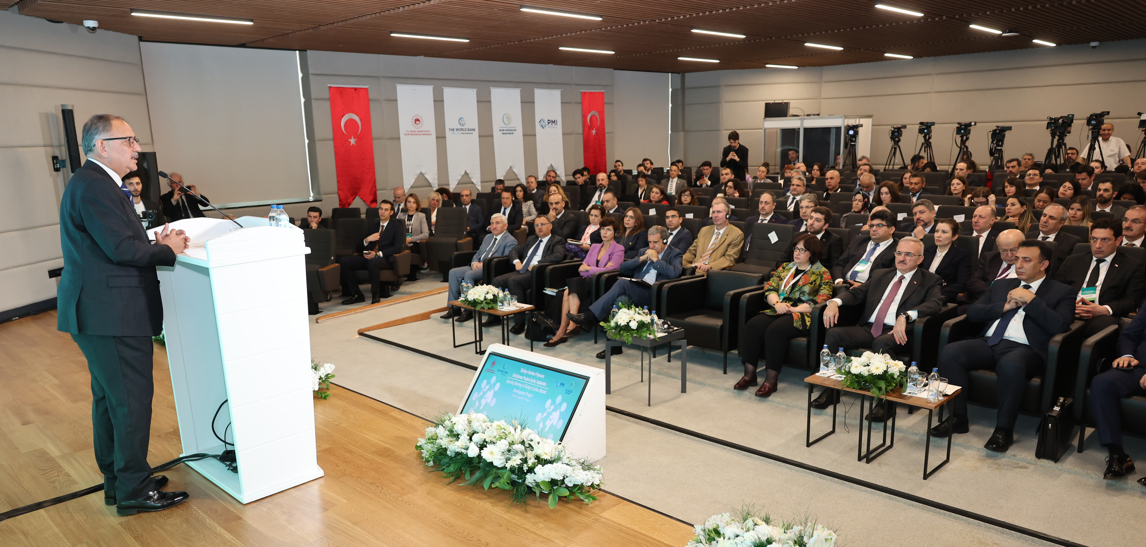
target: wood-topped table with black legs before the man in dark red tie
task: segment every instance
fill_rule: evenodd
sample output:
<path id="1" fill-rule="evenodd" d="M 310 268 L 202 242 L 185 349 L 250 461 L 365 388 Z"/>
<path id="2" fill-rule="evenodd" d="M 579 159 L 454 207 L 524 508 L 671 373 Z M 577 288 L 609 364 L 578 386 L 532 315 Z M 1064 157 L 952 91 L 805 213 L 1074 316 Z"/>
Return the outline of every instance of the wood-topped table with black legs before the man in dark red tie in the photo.
<path id="1" fill-rule="evenodd" d="M 847 392 L 850 392 L 850 393 L 858 393 L 859 394 L 859 420 L 864 419 L 864 412 L 863 412 L 864 411 L 864 403 L 868 400 L 869 397 L 871 397 L 871 391 L 854 390 L 851 388 L 845 388 L 843 384 L 840 383 L 839 380 L 833 380 L 831 377 L 819 376 L 818 374 L 813 374 L 811 376 L 808 376 L 807 378 L 803 378 L 803 381 L 808 384 L 808 430 L 807 430 L 807 433 L 806 433 L 806 437 L 804 437 L 806 446 L 811 446 L 811 445 L 814 445 L 814 444 L 823 440 L 824 437 L 827 437 L 829 435 L 832 435 L 832 433 L 835 432 L 835 407 L 837 407 L 838 404 L 833 404 L 832 405 L 832 429 L 831 429 L 831 431 L 827 431 L 826 433 L 821 435 L 819 437 L 817 437 L 815 440 L 811 440 L 811 392 L 813 392 L 813 388 L 816 386 L 816 385 L 823 385 L 824 388 L 838 389 L 838 390 L 847 391 Z M 916 397 L 916 396 L 903 394 L 903 393 L 901 393 L 901 389 L 900 388 L 896 388 L 895 391 L 892 391 L 892 392 L 887 393 L 887 404 L 888 404 L 887 412 L 893 413 L 892 414 L 892 427 L 890 427 L 890 433 L 892 433 L 890 441 L 888 441 L 888 438 L 887 438 L 887 433 L 888 433 L 887 422 L 884 422 L 882 441 L 879 445 L 877 445 L 876 447 L 872 447 L 871 446 L 871 429 L 872 429 L 872 423 L 868 422 L 868 444 L 866 444 L 866 450 L 865 450 L 865 447 L 864 447 L 864 431 L 863 431 L 864 428 L 863 428 L 863 424 L 861 423 L 859 428 L 857 428 L 859 430 L 859 441 L 858 441 L 858 447 L 856 448 L 856 461 L 863 461 L 865 463 L 871 463 L 872 460 L 874 460 L 876 458 L 879 458 L 881 454 L 884 454 L 885 452 L 892 450 L 892 447 L 895 446 L 895 405 L 896 404 L 903 404 L 903 405 L 913 406 L 913 407 L 918 407 L 918 408 L 926 408 L 927 409 L 927 438 L 926 438 L 926 444 L 924 445 L 924 480 L 927 480 L 927 478 L 931 477 L 932 475 L 934 475 L 935 471 L 937 471 L 941 467 L 945 466 L 949 461 L 951 461 L 951 437 L 948 437 L 947 438 L 947 458 L 942 462 L 940 462 L 939 466 L 935 466 L 933 469 L 931 469 L 931 470 L 927 469 L 927 467 L 929 464 L 929 460 L 931 460 L 931 438 L 932 438 L 931 429 L 932 429 L 932 425 L 933 425 L 934 412 L 936 409 L 939 409 L 939 420 L 940 420 L 940 422 L 942 422 L 943 421 L 943 406 L 945 406 L 948 403 L 950 403 L 951 399 L 955 398 L 955 396 L 959 394 L 960 392 L 963 392 L 963 388 L 959 388 L 959 389 L 955 390 L 955 392 L 951 393 L 951 394 L 941 397 L 940 400 L 937 400 L 935 403 L 932 403 L 932 401 L 927 400 L 926 397 Z M 876 398 L 872 397 L 872 406 L 876 405 L 874 399 Z M 876 452 L 876 451 L 878 451 L 878 452 Z"/>

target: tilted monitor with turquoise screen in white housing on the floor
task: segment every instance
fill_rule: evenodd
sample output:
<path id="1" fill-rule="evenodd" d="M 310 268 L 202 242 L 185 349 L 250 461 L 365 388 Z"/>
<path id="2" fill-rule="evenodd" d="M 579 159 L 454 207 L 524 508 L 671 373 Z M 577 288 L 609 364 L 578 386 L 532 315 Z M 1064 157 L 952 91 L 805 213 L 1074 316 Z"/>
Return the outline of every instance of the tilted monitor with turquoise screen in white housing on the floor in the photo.
<path id="1" fill-rule="evenodd" d="M 517 420 L 573 455 L 605 456 L 605 372 L 596 367 L 493 344 L 457 412 Z"/>

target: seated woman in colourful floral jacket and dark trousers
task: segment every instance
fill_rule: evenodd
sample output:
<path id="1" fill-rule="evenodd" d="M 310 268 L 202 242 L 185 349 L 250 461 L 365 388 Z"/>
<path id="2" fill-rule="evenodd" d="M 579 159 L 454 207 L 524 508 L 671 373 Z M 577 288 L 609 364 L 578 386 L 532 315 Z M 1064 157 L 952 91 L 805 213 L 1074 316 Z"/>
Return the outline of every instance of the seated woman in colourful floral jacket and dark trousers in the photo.
<path id="1" fill-rule="evenodd" d="M 788 341 L 807 335 L 811 306 L 832 298 L 832 274 L 819 264 L 823 256 L 824 247 L 818 237 L 798 236 L 792 242 L 792 261 L 772 272 L 772 278 L 764 283 L 764 298 L 772 307 L 758 313 L 744 326 L 739 349 L 744 377 L 735 389 L 756 385 L 756 365 L 763 351 L 768 375 L 756 390 L 756 397 L 776 392 Z"/>

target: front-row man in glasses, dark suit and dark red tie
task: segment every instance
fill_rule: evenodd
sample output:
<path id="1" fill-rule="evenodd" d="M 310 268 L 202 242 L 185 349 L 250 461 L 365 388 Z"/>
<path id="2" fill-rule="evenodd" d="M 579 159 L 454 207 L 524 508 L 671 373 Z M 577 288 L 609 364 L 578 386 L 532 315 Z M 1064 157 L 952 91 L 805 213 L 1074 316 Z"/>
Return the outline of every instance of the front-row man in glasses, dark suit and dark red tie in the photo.
<path id="1" fill-rule="evenodd" d="M 943 308 L 943 280 L 920 268 L 923 260 L 924 242 L 903 237 L 895 248 L 895 268 L 872 272 L 863 284 L 827 300 L 824 308 L 824 327 L 827 328 L 824 343 L 827 347 L 871 347 L 876 353 L 910 355 L 912 329 L 908 325 Z M 864 304 L 862 322 L 854 327 L 837 327 L 840 306 L 859 303 Z M 839 397 L 839 390 L 825 389 L 811 405 L 827 408 L 838 403 Z M 868 420 L 873 422 L 888 417 L 882 400 L 868 414 Z"/>

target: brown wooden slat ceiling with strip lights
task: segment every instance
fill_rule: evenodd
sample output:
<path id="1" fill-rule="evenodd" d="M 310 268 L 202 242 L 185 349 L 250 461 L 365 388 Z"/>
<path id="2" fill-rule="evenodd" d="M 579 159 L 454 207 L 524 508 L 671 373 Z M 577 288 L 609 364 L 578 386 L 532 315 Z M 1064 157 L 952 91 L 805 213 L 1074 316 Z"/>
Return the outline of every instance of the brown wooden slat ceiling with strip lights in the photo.
<path id="1" fill-rule="evenodd" d="M 888 0 L 923 17 L 874 8 L 866 0 L 537 0 L 526 6 L 602 16 L 576 19 L 520 11 L 499 0 L 22 0 L 19 13 L 146 40 L 288 49 L 511 61 L 662 72 L 826 67 L 882 61 L 884 53 L 927 57 L 1146 38 L 1140 0 Z M 253 25 L 134 17 L 151 9 L 243 17 Z M 1137 22 L 1136 22 L 1137 21 Z M 999 37 L 979 24 L 1014 30 Z M 698 34 L 691 29 L 746 34 Z M 391 37 L 391 31 L 469 38 L 450 42 Z M 842 52 L 804 46 L 840 46 Z M 613 55 L 558 47 L 613 50 Z M 678 61 L 716 58 L 720 63 Z"/>

